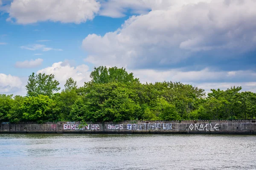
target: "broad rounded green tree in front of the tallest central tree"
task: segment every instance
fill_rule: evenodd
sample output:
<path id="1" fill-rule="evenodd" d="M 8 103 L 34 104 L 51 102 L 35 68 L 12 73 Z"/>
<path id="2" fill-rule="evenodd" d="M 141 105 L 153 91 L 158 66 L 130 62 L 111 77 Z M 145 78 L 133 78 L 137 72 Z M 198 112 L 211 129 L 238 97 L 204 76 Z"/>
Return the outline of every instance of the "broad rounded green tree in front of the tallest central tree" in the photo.
<path id="1" fill-rule="evenodd" d="M 90 83 L 84 96 L 86 119 L 92 122 L 136 119 L 140 106 L 134 102 L 135 91 L 124 83 Z"/>

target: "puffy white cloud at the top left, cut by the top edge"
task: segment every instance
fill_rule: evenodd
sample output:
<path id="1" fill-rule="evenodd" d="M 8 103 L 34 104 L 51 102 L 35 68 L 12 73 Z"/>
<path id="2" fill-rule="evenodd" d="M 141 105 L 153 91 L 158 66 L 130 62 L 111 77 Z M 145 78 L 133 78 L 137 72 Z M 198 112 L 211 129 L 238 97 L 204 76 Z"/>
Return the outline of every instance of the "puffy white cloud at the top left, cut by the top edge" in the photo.
<path id="1" fill-rule="evenodd" d="M 92 20 L 99 8 L 96 0 L 13 0 L 9 20 L 15 18 L 19 24 L 47 20 L 79 24 Z"/>

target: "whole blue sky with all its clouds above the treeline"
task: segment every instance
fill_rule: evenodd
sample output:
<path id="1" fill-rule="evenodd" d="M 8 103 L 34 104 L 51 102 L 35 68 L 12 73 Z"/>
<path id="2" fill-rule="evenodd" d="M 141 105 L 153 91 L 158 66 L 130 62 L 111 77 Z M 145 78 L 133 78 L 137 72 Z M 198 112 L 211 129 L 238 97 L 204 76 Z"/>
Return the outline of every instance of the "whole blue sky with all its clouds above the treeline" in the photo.
<path id="1" fill-rule="evenodd" d="M 33 72 L 90 81 L 117 66 L 140 82 L 256 92 L 256 0 L 0 0 L 0 94 Z"/>

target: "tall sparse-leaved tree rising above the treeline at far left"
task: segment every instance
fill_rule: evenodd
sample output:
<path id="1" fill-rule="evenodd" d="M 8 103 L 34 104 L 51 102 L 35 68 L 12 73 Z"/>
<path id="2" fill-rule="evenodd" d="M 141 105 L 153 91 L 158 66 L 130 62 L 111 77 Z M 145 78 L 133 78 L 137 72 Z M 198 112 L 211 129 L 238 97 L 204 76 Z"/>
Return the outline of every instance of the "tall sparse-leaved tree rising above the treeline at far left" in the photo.
<path id="1" fill-rule="evenodd" d="M 52 96 L 55 91 L 59 91 L 58 88 L 60 83 L 54 79 L 54 75 L 35 74 L 29 76 L 28 84 L 26 85 L 27 96 Z"/>

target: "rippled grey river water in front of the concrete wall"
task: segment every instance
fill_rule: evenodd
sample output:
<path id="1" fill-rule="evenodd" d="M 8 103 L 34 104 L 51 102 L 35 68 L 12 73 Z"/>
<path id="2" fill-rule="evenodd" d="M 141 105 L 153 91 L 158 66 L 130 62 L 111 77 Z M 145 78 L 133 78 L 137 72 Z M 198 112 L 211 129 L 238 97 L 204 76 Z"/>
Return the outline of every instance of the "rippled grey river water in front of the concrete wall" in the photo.
<path id="1" fill-rule="evenodd" d="M 0 134 L 1 170 L 256 170 L 256 136 Z"/>

